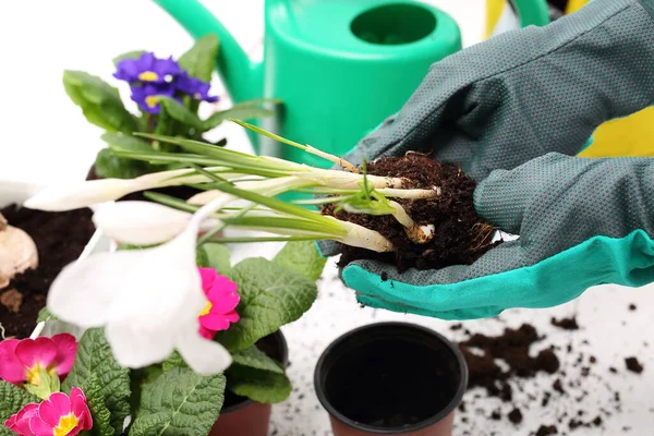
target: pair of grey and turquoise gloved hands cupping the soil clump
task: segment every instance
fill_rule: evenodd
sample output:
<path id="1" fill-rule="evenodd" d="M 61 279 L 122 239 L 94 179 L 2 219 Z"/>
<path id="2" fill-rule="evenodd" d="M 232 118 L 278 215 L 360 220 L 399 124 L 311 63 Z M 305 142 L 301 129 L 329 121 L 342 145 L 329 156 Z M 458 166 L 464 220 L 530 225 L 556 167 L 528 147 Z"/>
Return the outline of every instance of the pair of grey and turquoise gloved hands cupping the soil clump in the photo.
<path id="1" fill-rule="evenodd" d="M 651 12 L 654 0 L 595 0 L 434 64 L 401 111 L 346 158 L 432 150 L 480 182 L 482 217 L 520 238 L 440 270 L 398 275 L 354 262 L 341 277 L 359 302 L 462 319 L 561 304 L 594 284 L 654 280 L 644 213 L 654 210 L 653 164 L 564 156 L 603 122 L 654 102 Z"/>

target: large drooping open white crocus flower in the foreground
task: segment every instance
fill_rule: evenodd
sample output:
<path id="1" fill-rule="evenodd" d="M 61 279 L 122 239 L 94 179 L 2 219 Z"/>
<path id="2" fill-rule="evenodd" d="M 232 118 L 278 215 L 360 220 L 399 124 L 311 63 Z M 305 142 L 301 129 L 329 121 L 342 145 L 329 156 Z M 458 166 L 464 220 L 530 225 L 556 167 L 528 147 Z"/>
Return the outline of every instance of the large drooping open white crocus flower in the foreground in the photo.
<path id="1" fill-rule="evenodd" d="M 66 266 L 50 288 L 48 308 L 83 328 L 104 326 L 113 355 L 125 367 L 161 362 L 178 350 L 198 374 L 225 371 L 230 354 L 198 332 L 197 315 L 206 298 L 195 251 L 202 222 L 232 199 L 226 195 L 202 207 L 181 233 L 162 245 L 97 253 Z M 147 222 L 142 225 L 141 230 L 148 232 Z M 120 231 L 114 234 L 120 239 Z M 126 234 L 133 229 L 122 237 Z"/>

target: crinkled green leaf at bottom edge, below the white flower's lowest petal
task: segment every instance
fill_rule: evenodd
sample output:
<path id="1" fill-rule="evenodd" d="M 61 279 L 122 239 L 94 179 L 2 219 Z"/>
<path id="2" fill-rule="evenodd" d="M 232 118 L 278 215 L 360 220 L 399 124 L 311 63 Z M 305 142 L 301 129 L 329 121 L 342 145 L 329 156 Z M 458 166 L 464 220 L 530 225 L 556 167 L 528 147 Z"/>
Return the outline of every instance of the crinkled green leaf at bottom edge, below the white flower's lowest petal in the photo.
<path id="1" fill-rule="evenodd" d="M 206 435 L 220 415 L 223 397 L 222 374 L 203 377 L 190 368 L 164 373 L 144 386 L 130 436 Z"/>

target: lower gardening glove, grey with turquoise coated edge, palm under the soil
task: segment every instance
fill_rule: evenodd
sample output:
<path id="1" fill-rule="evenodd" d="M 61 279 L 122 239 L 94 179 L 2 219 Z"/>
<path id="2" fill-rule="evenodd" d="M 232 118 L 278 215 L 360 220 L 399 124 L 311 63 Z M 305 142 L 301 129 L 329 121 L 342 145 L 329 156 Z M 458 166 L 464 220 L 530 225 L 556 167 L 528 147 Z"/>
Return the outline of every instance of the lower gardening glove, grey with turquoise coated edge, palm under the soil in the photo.
<path id="1" fill-rule="evenodd" d="M 552 153 L 493 171 L 474 202 L 483 217 L 519 239 L 470 266 L 399 275 L 378 262 L 352 263 L 342 279 L 359 302 L 463 319 L 555 306 L 596 284 L 654 281 L 654 158 Z"/>

